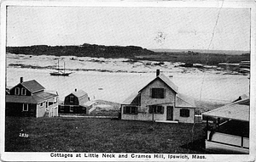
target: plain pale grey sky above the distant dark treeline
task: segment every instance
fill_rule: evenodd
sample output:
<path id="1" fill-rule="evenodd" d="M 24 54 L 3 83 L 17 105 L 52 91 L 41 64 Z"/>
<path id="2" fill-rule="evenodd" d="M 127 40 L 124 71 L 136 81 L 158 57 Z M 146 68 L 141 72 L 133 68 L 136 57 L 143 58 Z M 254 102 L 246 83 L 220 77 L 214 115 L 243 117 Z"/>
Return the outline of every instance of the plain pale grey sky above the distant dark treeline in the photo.
<path id="1" fill-rule="evenodd" d="M 249 8 L 7 8 L 7 46 L 250 50 Z"/>

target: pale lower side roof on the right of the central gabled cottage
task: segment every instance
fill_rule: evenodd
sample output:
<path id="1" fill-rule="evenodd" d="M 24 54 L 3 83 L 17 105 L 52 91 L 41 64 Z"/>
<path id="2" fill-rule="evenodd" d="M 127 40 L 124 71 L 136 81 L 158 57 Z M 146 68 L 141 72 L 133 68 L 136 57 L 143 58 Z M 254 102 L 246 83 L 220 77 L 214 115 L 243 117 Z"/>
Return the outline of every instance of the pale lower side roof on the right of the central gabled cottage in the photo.
<path id="1" fill-rule="evenodd" d="M 195 108 L 195 100 L 182 93 L 177 93 L 176 107 Z"/>

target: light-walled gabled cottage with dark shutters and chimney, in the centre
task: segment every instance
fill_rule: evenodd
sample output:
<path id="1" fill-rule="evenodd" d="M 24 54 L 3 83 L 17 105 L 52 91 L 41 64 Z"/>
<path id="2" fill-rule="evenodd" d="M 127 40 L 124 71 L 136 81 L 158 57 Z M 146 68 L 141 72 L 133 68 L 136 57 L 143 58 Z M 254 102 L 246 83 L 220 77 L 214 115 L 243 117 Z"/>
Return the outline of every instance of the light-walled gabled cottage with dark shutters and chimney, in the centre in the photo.
<path id="1" fill-rule="evenodd" d="M 195 102 L 157 70 L 153 81 L 121 104 L 121 119 L 194 123 Z"/>

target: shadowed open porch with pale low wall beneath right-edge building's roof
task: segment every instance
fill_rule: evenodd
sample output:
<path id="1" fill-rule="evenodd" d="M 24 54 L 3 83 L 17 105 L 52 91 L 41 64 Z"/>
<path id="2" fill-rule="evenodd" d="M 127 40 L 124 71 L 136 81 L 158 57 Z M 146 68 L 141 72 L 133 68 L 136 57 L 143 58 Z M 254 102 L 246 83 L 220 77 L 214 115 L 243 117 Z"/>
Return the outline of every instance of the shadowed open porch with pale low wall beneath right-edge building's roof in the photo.
<path id="1" fill-rule="evenodd" d="M 249 122 L 225 120 L 217 125 L 216 128 L 207 125 L 206 149 L 249 154 Z"/>

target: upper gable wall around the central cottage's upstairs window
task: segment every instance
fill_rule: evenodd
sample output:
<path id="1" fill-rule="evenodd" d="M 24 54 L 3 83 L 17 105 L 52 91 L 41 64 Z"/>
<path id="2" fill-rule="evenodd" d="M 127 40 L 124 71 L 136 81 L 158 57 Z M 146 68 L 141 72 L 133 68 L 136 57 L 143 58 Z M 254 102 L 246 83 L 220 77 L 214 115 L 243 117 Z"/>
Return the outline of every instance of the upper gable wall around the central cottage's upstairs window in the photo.
<path id="1" fill-rule="evenodd" d="M 165 98 L 151 98 L 150 91 L 151 88 L 165 88 L 166 96 Z M 156 104 L 156 103 L 173 103 L 175 100 L 175 92 L 172 91 L 170 87 L 167 87 L 163 81 L 155 80 L 148 87 L 145 87 L 141 92 L 141 110 L 147 110 L 148 105 Z"/>

